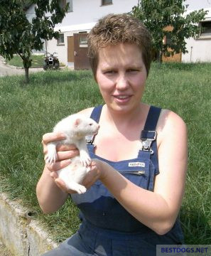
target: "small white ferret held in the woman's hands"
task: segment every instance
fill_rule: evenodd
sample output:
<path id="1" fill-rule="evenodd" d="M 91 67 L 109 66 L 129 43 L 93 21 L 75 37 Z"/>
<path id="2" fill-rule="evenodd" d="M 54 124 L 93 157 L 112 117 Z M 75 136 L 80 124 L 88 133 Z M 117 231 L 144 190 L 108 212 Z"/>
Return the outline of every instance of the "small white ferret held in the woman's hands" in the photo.
<path id="1" fill-rule="evenodd" d="M 85 193 L 85 186 L 80 185 L 91 164 L 90 155 L 87 150 L 85 136 L 94 135 L 99 129 L 99 124 L 93 119 L 84 117 L 80 114 L 71 114 L 62 119 L 53 128 L 53 132 L 61 132 L 65 134 L 66 139 L 49 142 L 47 144 L 48 154 L 45 162 L 52 164 L 57 160 L 56 146 L 58 144 L 75 144 L 80 151 L 80 156 L 71 159 L 69 166 L 58 170 L 58 177 L 61 178 L 68 189 L 77 191 L 77 193 Z"/>

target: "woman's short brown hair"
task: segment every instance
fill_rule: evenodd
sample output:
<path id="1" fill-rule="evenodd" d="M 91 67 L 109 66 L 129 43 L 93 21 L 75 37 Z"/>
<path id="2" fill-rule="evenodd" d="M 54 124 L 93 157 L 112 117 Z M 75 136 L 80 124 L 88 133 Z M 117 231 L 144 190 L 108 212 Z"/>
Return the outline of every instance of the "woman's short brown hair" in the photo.
<path id="1" fill-rule="evenodd" d="M 100 18 L 88 34 L 88 57 L 94 78 L 98 65 L 98 50 L 117 43 L 139 46 L 148 75 L 151 65 L 151 35 L 139 19 L 129 14 L 108 14 Z"/>

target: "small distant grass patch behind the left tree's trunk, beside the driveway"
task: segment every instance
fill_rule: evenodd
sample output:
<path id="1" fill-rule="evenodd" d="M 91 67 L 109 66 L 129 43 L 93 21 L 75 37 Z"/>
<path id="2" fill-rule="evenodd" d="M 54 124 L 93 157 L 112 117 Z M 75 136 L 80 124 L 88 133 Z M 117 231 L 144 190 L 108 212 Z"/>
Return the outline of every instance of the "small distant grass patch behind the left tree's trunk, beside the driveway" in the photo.
<path id="1" fill-rule="evenodd" d="M 31 68 L 43 67 L 43 57 L 44 55 L 31 55 Z M 23 60 L 18 55 L 14 55 L 11 60 L 6 60 L 6 63 L 16 67 L 23 67 Z"/>

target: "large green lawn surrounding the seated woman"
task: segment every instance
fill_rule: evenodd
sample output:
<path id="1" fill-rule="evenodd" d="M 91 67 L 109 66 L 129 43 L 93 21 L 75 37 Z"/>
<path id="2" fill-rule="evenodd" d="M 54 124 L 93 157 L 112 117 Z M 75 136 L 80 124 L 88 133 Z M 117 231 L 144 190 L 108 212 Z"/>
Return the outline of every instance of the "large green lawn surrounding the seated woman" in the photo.
<path id="1" fill-rule="evenodd" d="M 185 242 L 211 243 L 211 64 L 153 63 L 144 102 L 173 110 L 188 125 L 188 176 L 180 211 Z M 50 228 L 56 241 L 77 230 L 78 210 L 71 201 L 57 213 L 43 215 L 36 183 L 43 170 L 42 135 L 59 119 L 99 105 L 90 71 L 45 71 L 0 78 L 0 190 L 23 201 Z"/>

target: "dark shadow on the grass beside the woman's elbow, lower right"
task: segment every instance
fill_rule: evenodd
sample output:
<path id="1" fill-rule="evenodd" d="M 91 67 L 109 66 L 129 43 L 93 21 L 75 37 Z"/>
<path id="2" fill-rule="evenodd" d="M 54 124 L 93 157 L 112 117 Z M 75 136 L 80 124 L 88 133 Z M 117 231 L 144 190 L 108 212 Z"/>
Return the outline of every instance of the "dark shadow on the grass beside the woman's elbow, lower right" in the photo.
<path id="1" fill-rule="evenodd" d="M 209 218 L 196 208 L 180 210 L 180 221 L 182 224 L 186 245 L 210 245 L 211 226 Z"/>

